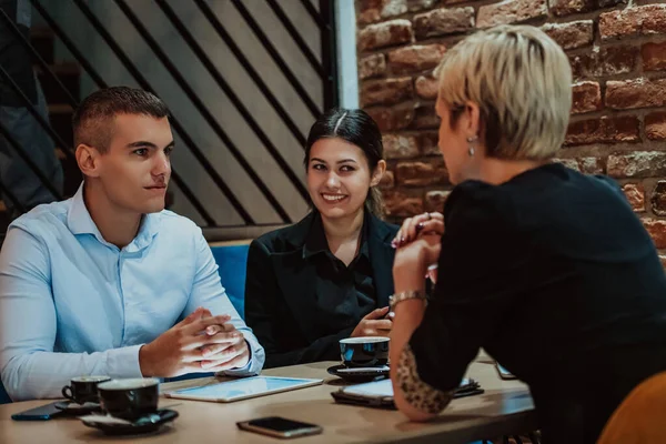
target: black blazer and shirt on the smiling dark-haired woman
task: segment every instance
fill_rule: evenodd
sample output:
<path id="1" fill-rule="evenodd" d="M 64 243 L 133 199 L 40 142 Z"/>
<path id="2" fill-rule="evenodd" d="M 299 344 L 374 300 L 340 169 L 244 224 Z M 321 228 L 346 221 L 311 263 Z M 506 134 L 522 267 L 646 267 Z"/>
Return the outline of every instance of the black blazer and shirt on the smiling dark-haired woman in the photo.
<path id="1" fill-rule="evenodd" d="M 245 321 L 265 349 L 265 367 L 340 360 L 337 342 L 389 305 L 396 232 L 366 212 L 349 268 L 331 253 L 316 211 L 250 244 Z"/>

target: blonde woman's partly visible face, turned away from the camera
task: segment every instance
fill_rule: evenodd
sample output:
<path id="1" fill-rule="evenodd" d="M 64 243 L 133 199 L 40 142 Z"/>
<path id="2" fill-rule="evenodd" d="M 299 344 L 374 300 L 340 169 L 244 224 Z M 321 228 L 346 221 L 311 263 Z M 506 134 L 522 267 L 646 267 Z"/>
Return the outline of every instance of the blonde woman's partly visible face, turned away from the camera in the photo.
<path id="1" fill-rule="evenodd" d="M 457 184 L 471 178 L 474 158 L 482 155 L 481 150 L 476 149 L 475 155 L 470 155 L 470 143 L 467 142 L 465 131 L 465 115 L 461 117 L 453 128 L 451 127 L 451 109 L 442 99 L 437 99 L 435 104 L 437 115 L 440 117 L 440 152 L 444 157 L 444 163 L 448 171 L 448 180 Z M 475 144 L 472 144 L 475 147 Z"/>

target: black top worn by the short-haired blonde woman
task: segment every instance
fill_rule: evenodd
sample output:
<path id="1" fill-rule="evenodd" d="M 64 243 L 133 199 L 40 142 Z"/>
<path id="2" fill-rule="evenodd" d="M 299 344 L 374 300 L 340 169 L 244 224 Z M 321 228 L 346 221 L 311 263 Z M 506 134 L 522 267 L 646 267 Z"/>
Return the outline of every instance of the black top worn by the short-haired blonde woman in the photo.
<path id="1" fill-rule="evenodd" d="M 444 218 L 440 281 L 410 342 L 422 380 L 454 389 L 483 346 L 529 385 L 547 442 L 595 442 L 666 370 L 664 269 L 619 188 L 548 164 L 460 184 Z"/>

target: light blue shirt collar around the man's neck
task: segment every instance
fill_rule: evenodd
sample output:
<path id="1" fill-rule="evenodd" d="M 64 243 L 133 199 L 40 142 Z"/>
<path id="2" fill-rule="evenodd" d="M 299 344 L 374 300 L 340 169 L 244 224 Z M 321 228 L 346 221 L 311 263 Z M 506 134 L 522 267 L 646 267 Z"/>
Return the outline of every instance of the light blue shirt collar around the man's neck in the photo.
<path id="1" fill-rule="evenodd" d="M 139 233 L 123 250 L 127 252 L 137 252 L 150 245 L 152 239 L 158 234 L 160 213 L 143 214 Z M 90 216 L 85 201 L 83 200 L 83 183 L 77 190 L 77 193 L 71 199 L 69 212 L 67 214 L 67 224 L 69 230 L 74 234 L 92 234 L 100 243 L 114 246 L 107 242 L 100 233 L 97 224 Z"/>

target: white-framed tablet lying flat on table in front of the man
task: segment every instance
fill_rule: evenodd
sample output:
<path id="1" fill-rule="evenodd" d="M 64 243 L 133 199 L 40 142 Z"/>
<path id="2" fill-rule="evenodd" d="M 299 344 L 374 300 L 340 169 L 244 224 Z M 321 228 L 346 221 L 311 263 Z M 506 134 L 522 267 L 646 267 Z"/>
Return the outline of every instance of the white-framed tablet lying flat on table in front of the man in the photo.
<path id="1" fill-rule="evenodd" d="M 181 389 L 167 393 L 167 397 L 182 400 L 234 402 L 249 397 L 264 396 L 290 390 L 320 385 L 324 380 L 300 377 L 252 376 L 242 380 L 226 381 L 219 384 Z"/>

